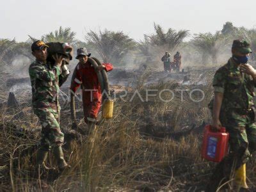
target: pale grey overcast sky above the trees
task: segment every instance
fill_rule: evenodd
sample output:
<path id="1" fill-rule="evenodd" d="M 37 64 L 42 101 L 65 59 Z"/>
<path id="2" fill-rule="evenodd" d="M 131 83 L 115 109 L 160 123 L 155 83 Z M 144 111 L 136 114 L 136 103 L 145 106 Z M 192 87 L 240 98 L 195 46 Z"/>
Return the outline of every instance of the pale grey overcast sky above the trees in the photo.
<path id="1" fill-rule="evenodd" d="M 221 30 L 227 21 L 234 26 L 256 26 L 256 1 L 237 0 L 0 0 L 0 38 L 28 39 L 70 27 L 79 40 L 89 29 L 124 31 L 135 40 L 154 31 L 188 29 L 194 33 Z"/>

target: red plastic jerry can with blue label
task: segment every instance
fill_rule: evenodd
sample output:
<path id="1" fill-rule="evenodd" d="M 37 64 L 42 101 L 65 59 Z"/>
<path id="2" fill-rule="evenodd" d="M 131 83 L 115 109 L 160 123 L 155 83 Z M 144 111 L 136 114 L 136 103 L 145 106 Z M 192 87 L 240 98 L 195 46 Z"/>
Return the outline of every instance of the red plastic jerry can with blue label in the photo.
<path id="1" fill-rule="evenodd" d="M 206 125 L 202 144 L 202 157 L 209 161 L 220 162 L 228 152 L 228 137 L 225 127 L 219 132 L 211 131 L 211 125 Z"/>

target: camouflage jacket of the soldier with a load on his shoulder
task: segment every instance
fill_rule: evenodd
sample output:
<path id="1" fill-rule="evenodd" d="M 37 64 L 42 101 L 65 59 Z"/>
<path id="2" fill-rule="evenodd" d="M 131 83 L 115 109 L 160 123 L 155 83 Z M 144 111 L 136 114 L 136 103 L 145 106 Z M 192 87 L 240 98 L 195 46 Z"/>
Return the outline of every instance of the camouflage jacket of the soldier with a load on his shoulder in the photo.
<path id="1" fill-rule="evenodd" d="M 29 76 L 33 108 L 50 107 L 60 111 L 58 93 L 60 84 L 67 79 L 66 76 L 61 75 L 60 67 L 52 67 L 49 63 L 35 61 L 29 66 Z"/>

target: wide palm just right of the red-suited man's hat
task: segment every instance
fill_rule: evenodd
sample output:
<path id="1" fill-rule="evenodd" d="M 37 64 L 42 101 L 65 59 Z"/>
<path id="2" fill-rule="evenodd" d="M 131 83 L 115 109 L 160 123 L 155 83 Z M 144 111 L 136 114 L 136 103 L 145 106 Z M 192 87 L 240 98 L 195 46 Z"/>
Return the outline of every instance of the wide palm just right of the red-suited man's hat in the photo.
<path id="1" fill-rule="evenodd" d="M 90 31 L 85 36 L 88 46 L 97 51 L 104 62 L 120 63 L 125 54 L 136 47 L 136 42 L 122 31 Z"/>

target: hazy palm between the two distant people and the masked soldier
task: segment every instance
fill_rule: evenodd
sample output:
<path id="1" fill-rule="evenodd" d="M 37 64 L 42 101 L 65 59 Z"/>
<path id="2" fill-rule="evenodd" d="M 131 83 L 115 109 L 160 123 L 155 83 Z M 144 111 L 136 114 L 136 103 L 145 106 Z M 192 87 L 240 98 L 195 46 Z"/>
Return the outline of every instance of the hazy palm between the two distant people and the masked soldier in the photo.
<path id="1" fill-rule="evenodd" d="M 218 54 L 227 45 L 228 39 L 217 31 L 215 34 L 199 33 L 193 38 L 192 43 L 196 51 L 201 54 L 204 63 L 208 58 L 212 60 L 212 63 L 217 63 Z"/>

